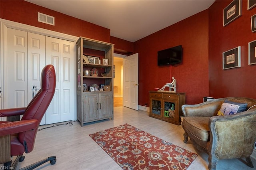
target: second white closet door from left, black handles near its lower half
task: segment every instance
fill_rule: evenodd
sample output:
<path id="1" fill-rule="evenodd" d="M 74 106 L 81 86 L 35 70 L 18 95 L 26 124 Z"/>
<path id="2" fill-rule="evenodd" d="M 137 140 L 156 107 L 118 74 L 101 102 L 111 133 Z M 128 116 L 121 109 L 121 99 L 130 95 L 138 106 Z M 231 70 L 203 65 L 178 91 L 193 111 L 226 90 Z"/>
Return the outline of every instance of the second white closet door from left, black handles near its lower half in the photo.
<path id="1" fill-rule="evenodd" d="M 41 88 L 41 72 L 44 66 L 45 36 L 28 32 L 28 103 Z M 45 125 L 45 115 L 40 125 Z"/>

